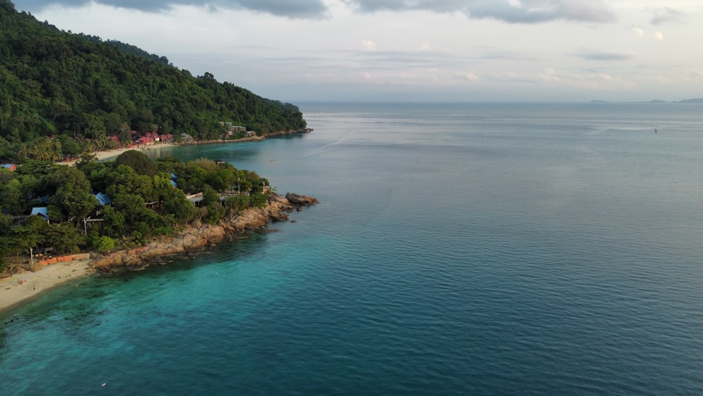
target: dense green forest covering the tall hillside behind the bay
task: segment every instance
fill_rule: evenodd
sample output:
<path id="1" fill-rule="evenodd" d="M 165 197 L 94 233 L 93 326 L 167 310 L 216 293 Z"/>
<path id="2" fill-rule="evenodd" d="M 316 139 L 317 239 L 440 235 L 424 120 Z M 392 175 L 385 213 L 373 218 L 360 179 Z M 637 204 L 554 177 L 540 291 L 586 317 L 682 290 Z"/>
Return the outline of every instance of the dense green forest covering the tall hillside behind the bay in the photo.
<path id="1" fill-rule="evenodd" d="M 219 139 L 232 122 L 266 136 L 306 127 L 290 103 L 119 41 L 58 30 L 0 0 L 0 163 L 58 160 L 146 132 Z"/>

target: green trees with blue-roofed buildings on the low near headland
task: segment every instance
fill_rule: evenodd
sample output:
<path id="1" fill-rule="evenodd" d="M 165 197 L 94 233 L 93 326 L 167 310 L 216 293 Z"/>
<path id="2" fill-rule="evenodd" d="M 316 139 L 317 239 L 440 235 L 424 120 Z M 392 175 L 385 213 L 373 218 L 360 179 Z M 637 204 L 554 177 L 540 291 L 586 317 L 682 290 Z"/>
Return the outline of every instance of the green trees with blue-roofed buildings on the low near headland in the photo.
<path id="1" fill-rule="evenodd" d="M 104 192 L 102 203 L 93 196 L 97 191 Z M 30 248 L 108 251 L 170 236 L 186 224 L 214 224 L 265 206 L 269 191 L 266 179 L 229 164 L 151 161 L 138 151 L 108 162 L 88 156 L 75 167 L 30 162 L 16 172 L 0 169 L 0 269 L 7 255 Z M 48 219 L 28 215 L 33 207 L 46 207 Z"/>

